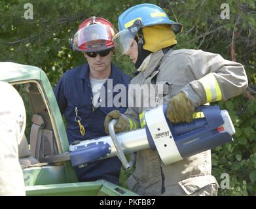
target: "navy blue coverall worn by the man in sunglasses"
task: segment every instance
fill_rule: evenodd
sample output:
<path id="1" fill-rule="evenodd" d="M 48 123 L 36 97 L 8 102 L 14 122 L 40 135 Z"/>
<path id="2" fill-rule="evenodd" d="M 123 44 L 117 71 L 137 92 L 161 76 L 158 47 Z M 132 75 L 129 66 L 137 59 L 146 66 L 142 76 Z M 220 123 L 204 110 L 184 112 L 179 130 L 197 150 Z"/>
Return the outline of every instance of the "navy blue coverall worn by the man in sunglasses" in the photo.
<path id="1" fill-rule="evenodd" d="M 110 97 L 113 88 L 111 90 L 107 89 L 107 82 L 103 84 L 105 86 L 105 107 L 99 106 L 98 108 L 94 108 L 92 105 L 93 95 L 89 71 L 88 63 L 71 69 L 63 74 L 54 88 L 54 94 L 58 101 L 60 112 L 64 114 L 67 120 L 69 144 L 75 140 L 88 140 L 106 136 L 107 134 L 104 129 L 105 116 L 112 110 L 119 110 L 121 113 L 124 113 L 127 108 L 127 102 L 125 106 L 115 107 L 113 105 L 113 107 L 107 107 L 107 99 L 113 99 L 118 94 L 118 92 L 113 92 L 113 97 Z M 130 76 L 117 69 L 113 63 L 111 63 L 111 74 L 108 79 L 112 79 L 113 87 L 116 84 L 123 84 L 128 93 Z M 79 124 L 75 121 L 75 108 L 77 108 L 77 115 L 81 118 L 81 124 L 86 131 L 84 136 L 81 135 Z M 119 159 L 117 157 L 111 157 L 88 163 L 83 168 L 75 167 L 75 170 L 80 182 L 103 179 L 113 184 L 119 184 L 120 167 L 121 163 Z"/>

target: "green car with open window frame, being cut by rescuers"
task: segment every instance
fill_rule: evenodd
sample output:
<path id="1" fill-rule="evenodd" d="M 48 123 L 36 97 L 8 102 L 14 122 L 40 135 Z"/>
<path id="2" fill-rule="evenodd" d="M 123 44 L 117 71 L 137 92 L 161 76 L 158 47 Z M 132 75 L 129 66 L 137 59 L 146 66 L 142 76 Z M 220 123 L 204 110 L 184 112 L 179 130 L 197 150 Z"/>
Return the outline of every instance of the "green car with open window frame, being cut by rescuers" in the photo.
<path id="1" fill-rule="evenodd" d="M 65 159 L 65 152 L 69 151 L 67 133 L 44 71 L 0 62 L 0 80 L 12 84 L 26 104 L 27 127 L 19 147 L 26 195 L 136 195 L 105 180 L 78 182 L 71 162 Z M 46 156 L 62 154 L 55 163 L 43 162 Z"/>

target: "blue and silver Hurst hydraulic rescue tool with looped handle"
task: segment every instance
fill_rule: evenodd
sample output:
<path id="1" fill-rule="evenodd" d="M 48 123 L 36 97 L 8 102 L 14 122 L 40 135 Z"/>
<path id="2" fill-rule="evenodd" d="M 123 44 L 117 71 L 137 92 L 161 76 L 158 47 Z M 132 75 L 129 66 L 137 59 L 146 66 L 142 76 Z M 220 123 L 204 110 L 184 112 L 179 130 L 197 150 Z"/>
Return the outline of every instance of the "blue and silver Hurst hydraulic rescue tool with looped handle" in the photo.
<path id="1" fill-rule="evenodd" d="M 128 162 L 124 153 L 151 149 L 157 150 L 162 162 L 169 165 L 233 140 L 234 125 L 227 110 L 220 110 L 219 106 L 200 106 L 196 110 L 200 118 L 175 125 L 166 118 L 166 109 L 167 105 L 160 105 L 147 110 L 145 128 L 117 135 L 114 131 L 117 120 L 113 120 L 109 124 L 110 136 L 75 141 L 69 146 L 69 152 L 43 157 L 43 161 L 70 159 L 75 167 L 118 156 L 124 168 L 130 169 L 135 161 L 134 154 Z"/>

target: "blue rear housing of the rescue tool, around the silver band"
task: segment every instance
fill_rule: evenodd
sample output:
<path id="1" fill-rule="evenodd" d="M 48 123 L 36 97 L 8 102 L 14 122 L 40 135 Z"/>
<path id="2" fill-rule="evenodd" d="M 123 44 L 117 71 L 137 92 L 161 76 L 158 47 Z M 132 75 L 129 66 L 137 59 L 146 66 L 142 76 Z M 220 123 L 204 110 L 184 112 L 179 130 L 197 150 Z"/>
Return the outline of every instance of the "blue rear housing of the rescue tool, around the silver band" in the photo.
<path id="1" fill-rule="evenodd" d="M 166 115 L 166 110 L 167 105 L 164 105 L 164 115 Z M 191 123 L 173 125 L 166 118 L 177 149 L 183 158 L 232 142 L 232 136 L 227 131 L 217 130 L 224 123 L 219 106 L 200 106 L 196 110 L 196 112 L 201 111 L 205 117 L 193 120 Z M 145 128 L 149 146 L 151 150 L 156 150 L 147 125 Z"/>

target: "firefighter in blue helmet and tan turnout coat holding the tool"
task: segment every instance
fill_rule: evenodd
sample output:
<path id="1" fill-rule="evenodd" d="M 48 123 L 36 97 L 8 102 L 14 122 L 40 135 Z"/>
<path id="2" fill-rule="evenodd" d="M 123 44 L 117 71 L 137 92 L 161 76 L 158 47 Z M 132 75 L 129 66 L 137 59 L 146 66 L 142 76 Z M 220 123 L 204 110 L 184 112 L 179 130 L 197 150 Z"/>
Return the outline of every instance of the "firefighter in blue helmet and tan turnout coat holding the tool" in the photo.
<path id="1" fill-rule="evenodd" d="M 131 84 L 155 84 L 156 106 L 160 102 L 168 104 L 167 118 L 172 123 L 189 122 L 196 107 L 227 101 L 247 87 L 246 72 L 240 63 L 202 50 L 174 50 L 175 35 L 181 29 L 181 24 L 170 20 L 162 8 L 141 4 L 120 14 L 120 32 L 113 38 L 117 56 L 129 56 L 137 68 Z M 151 99 L 145 93 L 143 96 Z M 136 99 L 141 98 L 135 95 Z M 124 115 L 116 110 L 110 112 L 105 118 L 106 131 L 113 118 L 118 119 L 117 132 L 144 127 L 144 111 L 149 108 L 142 103 L 128 107 Z M 136 170 L 126 184 L 139 195 L 217 195 L 210 150 L 172 165 L 164 165 L 157 151 L 139 151 Z"/>

